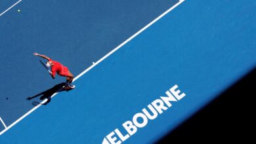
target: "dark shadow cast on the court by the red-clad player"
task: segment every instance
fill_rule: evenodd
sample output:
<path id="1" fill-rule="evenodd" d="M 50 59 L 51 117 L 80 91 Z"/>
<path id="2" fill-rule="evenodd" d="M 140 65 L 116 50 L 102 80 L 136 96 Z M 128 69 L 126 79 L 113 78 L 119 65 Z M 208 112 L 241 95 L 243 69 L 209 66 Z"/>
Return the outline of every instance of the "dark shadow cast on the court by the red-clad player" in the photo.
<path id="1" fill-rule="evenodd" d="M 62 92 L 62 91 L 66 91 L 63 86 L 65 86 L 65 82 L 62 82 L 60 84 L 56 84 L 55 86 L 53 86 L 53 88 L 50 88 L 48 90 L 45 90 L 44 92 L 41 92 L 39 94 L 36 94 L 35 96 L 32 97 L 28 97 L 27 99 L 33 99 L 33 98 L 37 98 L 39 96 L 40 99 L 43 101 L 44 99 L 47 99 L 47 101 L 45 103 L 42 103 L 43 105 L 47 105 L 47 103 L 51 102 L 51 96 L 53 96 L 53 94 L 55 94 L 56 92 Z M 39 102 L 34 101 L 33 103 L 37 103 L 37 105 L 39 104 Z M 33 104 L 34 105 L 34 104 Z"/>

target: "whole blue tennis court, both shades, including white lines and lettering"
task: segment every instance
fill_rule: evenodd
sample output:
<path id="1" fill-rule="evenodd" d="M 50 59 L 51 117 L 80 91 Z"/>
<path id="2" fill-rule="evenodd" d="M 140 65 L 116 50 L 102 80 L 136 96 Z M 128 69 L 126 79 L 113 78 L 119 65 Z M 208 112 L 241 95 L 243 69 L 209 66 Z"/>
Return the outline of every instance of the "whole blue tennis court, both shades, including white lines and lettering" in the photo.
<path id="1" fill-rule="evenodd" d="M 158 141 L 255 68 L 255 6 L 20 1 L 0 16 L 0 142 Z M 33 52 L 68 66 L 77 87 L 58 92 L 66 79 Z M 32 105 L 44 94 L 50 103 Z"/>

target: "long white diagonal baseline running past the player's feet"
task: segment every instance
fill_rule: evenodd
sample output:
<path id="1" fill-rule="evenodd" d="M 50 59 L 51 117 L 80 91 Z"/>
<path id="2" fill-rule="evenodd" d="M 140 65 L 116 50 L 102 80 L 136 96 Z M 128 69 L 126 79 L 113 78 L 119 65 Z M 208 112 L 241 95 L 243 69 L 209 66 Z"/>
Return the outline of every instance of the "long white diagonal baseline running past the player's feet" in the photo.
<path id="1" fill-rule="evenodd" d="M 77 75 L 77 77 L 75 77 L 74 81 L 77 80 L 79 77 L 81 77 L 82 75 L 84 75 L 85 73 L 87 73 L 88 71 L 90 71 L 91 69 L 93 69 L 93 67 L 95 67 L 96 65 L 98 65 L 98 63 L 102 62 L 104 59 L 108 58 L 108 56 L 110 56 L 111 54 L 113 54 L 114 52 L 116 52 L 116 50 L 118 50 L 119 48 L 121 48 L 121 46 L 125 45 L 126 43 L 128 43 L 129 41 L 131 41 L 133 38 L 135 38 L 137 35 L 139 35 L 140 33 L 142 33 L 142 31 L 144 31 L 145 29 L 147 29 L 148 27 L 152 26 L 152 24 L 154 24 L 156 21 L 160 20 L 160 18 L 162 18 L 163 16 L 165 16 L 167 13 L 169 13 L 171 10 L 175 9 L 175 7 L 177 7 L 178 5 L 180 5 L 182 2 L 184 2 L 184 0 L 180 0 L 178 3 L 176 3 L 175 5 L 173 5 L 173 7 L 171 7 L 170 9 L 168 9 L 167 11 L 163 12 L 163 14 L 161 14 L 160 16 L 158 16 L 158 18 L 156 18 L 155 20 L 153 20 L 152 22 L 150 22 L 150 24 L 146 25 L 145 27 L 143 27 L 142 29 L 140 29 L 140 31 L 138 31 L 137 33 L 135 33 L 133 36 L 131 36 L 129 39 L 127 39 L 126 41 L 124 41 L 123 43 L 121 43 L 119 46 L 117 46 L 114 50 L 112 50 L 111 52 L 109 52 L 108 54 L 106 54 L 106 56 L 104 56 L 103 58 L 100 58 L 100 60 L 98 60 L 96 63 L 94 63 L 93 65 L 91 65 L 90 67 L 88 67 L 87 69 L 85 69 L 85 71 L 83 71 L 82 73 L 80 73 L 79 75 Z M 51 98 L 53 98 L 54 96 L 56 96 L 56 94 L 58 94 L 58 92 L 56 92 L 55 94 L 53 94 L 53 96 L 51 96 Z M 47 101 L 47 99 L 45 99 L 44 101 L 42 101 L 41 103 L 45 103 Z M 13 122 L 10 126 L 8 126 L 7 128 L 5 128 L 5 130 L 3 130 L 2 132 L 0 132 L 0 135 L 5 133 L 7 130 L 9 130 L 12 126 L 14 126 L 16 123 L 20 122 L 20 120 L 22 120 L 23 118 L 27 117 L 28 115 L 30 115 L 30 113 L 32 113 L 33 111 L 35 111 L 35 109 L 37 109 L 38 107 L 40 107 L 41 105 L 37 105 L 36 107 L 33 107 L 33 109 L 31 109 L 30 111 L 28 111 L 28 113 L 26 113 L 25 115 L 23 115 L 22 117 L 18 118 L 18 120 L 16 120 L 15 122 Z"/>

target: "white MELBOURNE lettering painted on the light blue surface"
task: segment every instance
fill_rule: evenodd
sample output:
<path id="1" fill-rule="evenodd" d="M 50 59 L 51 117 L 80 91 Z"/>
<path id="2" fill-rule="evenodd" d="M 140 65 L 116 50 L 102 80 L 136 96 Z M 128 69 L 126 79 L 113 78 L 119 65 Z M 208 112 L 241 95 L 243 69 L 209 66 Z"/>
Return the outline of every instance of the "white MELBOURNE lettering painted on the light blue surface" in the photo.
<path id="1" fill-rule="evenodd" d="M 158 113 L 163 113 L 163 111 L 166 111 L 169 109 L 169 107 L 172 106 L 170 101 L 179 101 L 186 94 L 182 93 L 181 90 L 177 89 L 178 86 L 175 84 L 175 86 L 171 87 L 165 94 L 167 96 L 160 96 L 161 99 L 154 100 L 151 104 L 148 105 L 148 109 L 151 111 L 149 112 L 146 108 L 142 109 L 143 113 L 137 113 L 133 116 L 133 121 L 127 120 L 122 124 L 123 128 L 126 130 L 128 134 L 123 135 L 121 132 L 116 128 L 114 132 L 111 132 L 110 134 L 106 135 L 104 137 L 102 144 L 120 144 L 122 141 L 125 141 L 129 139 L 133 134 L 135 134 L 138 130 L 138 128 L 143 128 L 148 124 L 148 119 L 154 120 L 158 117 Z M 167 105 L 167 107 L 165 106 Z M 117 137 L 114 135 L 117 134 L 119 137 L 118 140 Z"/>

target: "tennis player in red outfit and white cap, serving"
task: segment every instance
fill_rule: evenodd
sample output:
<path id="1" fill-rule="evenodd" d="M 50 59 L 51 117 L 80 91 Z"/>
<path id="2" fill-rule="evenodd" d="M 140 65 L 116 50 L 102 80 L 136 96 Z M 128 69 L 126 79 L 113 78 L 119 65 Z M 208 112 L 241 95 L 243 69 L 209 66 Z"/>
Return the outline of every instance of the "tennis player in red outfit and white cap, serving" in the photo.
<path id="1" fill-rule="evenodd" d="M 60 62 L 51 60 L 51 58 L 44 56 L 42 54 L 37 54 L 35 52 L 35 53 L 33 53 L 33 55 L 40 56 L 41 58 L 44 58 L 47 60 L 47 63 L 45 65 L 47 67 L 51 67 L 51 71 L 49 71 L 49 73 L 50 73 L 51 77 L 53 77 L 53 79 L 55 79 L 56 73 L 58 73 L 58 75 L 60 75 L 62 77 L 66 77 L 66 84 L 64 86 L 64 88 L 66 90 L 71 90 L 71 89 L 75 88 L 75 86 L 71 84 L 74 79 L 74 75 L 72 75 L 72 73 L 70 73 L 70 71 L 68 70 L 68 67 L 65 67 Z"/>

